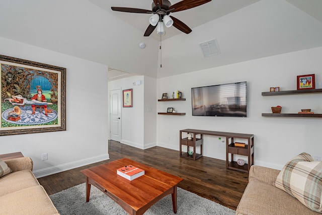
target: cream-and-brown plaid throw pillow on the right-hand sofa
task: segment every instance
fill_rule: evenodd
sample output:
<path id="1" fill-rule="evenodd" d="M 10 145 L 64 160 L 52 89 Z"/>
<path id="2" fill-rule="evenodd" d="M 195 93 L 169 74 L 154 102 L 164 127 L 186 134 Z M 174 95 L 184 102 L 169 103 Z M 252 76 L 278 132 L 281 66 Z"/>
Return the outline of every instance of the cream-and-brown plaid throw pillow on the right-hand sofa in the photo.
<path id="1" fill-rule="evenodd" d="M 273 185 L 311 210 L 322 212 L 322 162 L 309 154 L 301 153 L 286 163 Z"/>

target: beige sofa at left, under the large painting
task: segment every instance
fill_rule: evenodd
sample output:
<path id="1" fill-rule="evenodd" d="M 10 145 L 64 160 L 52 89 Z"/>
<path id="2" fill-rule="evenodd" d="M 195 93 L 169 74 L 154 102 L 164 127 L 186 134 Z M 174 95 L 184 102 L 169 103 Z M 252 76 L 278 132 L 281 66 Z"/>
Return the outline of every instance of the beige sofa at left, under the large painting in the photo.
<path id="1" fill-rule="evenodd" d="M 5 162 L 13 172 L 0 178 L 0 214 L 59 214 L 33 175 L 30 158 Z"/>

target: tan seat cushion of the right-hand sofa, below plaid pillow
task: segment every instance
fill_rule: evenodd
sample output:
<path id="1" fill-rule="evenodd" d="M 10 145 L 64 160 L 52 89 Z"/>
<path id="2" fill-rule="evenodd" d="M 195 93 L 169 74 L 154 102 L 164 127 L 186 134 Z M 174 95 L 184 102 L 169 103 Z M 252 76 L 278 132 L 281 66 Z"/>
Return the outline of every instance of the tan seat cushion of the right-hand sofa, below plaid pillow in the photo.
<path id="1" fill-rule="evenodd" d="M 313 215 L 316 212 L 301 204 L 296 198 L 290 196 L 272 184 L 252 180 L 248 183 L 243 196 L 236 208 L 236 214 L 247 215 Z"/>

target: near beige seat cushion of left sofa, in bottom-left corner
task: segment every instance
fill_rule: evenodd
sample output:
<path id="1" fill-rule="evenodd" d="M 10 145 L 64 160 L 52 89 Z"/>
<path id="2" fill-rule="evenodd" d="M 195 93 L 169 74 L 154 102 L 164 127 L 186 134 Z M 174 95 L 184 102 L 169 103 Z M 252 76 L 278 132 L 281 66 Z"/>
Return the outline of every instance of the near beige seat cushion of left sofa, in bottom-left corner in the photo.
<path id="1" fill-rule="evenodd" d="M 28 187 L 0 197 L 0 214 L 56 214 L 53 205 L 44 188 L 40 185 Z"/>

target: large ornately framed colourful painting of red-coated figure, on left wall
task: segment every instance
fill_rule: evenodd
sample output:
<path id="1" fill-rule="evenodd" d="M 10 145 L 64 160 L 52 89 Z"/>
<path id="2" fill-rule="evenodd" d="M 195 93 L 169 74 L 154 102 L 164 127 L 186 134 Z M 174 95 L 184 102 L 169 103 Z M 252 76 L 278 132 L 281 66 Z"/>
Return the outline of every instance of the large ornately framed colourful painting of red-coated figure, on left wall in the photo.
<path id="1" fill-rule="evenodd" d="M 66 68 L 0 55 L 0 136 L 66 130 Z"/>

